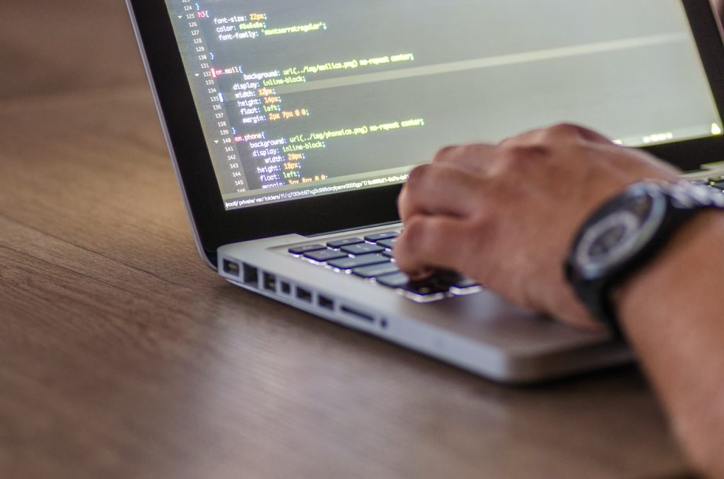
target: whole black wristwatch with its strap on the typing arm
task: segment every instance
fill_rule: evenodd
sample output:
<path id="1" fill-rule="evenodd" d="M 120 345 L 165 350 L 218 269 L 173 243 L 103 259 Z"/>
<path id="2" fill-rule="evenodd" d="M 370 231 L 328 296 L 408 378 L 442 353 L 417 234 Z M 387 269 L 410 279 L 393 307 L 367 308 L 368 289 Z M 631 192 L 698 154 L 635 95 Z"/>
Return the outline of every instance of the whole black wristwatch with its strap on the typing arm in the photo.
<path id="1" fill-rule="evenodd" d="M 685 180 L 631 185 L 584 223 L 565 276 L 594 317 L 623 339 L 613 290 L 652 260 L 686 221 L 710 208 L 724 208 L 724 195 L 711 187 Z"/>

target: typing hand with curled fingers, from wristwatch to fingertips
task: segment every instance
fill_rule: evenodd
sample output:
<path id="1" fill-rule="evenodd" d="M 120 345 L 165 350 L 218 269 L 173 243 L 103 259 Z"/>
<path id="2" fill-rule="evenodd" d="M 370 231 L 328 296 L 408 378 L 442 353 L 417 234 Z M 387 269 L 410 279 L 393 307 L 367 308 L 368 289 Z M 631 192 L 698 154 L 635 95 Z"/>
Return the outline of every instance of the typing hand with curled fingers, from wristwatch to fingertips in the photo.
<path id="1" fill-rule="evenodd" d="M 519 305 L 594 328 L 565 282 L 573 236 L 598 205 L 678 171 L 570 124 L 500 145 L 445 148 L 414 169 L 399 199 L 403 271 L 460 271 Z"/>

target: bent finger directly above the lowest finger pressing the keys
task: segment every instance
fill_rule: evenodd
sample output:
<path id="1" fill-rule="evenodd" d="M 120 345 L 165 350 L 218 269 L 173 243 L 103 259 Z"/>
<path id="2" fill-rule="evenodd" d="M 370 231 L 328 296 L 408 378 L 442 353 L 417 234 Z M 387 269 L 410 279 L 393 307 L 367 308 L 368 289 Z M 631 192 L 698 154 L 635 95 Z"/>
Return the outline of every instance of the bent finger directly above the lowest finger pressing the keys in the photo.
<path id="1" fill-rule="evenodd" d="M 451 164 L 428 164 L 413 169 L 397 200 L 400 218 L 417 214 L 469 216 L 477 207 L 484 179 Z"/>

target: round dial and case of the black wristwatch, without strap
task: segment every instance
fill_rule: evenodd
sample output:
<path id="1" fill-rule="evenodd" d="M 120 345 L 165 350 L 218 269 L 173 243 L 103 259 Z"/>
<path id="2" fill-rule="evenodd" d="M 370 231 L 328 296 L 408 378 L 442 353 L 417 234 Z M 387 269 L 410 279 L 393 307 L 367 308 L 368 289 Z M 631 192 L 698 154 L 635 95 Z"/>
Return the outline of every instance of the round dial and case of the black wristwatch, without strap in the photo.
<path id="1" fill-rule="evenodd" d="M 633 187 L 594 215 L 578 241 L 574 260 L 585 279 L 597 279 L 647 245 L 666 211 L 660 190 Z"/>

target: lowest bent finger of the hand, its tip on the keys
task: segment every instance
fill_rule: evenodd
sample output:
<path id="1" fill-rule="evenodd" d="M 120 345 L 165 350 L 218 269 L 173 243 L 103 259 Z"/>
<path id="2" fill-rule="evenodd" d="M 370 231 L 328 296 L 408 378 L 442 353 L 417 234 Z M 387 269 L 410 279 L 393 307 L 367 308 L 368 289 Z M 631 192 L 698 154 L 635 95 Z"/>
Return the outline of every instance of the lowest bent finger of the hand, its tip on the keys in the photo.
<path id="1" fill-rule="evenodd" d="M 429 268 L 466 271 L 476 255 L 469 227 L 450 216 L 413 216 L 395 243 L 397 266 L 411 276 Z"/>

